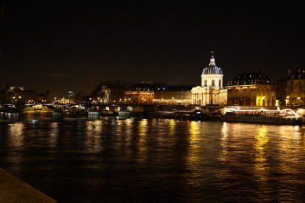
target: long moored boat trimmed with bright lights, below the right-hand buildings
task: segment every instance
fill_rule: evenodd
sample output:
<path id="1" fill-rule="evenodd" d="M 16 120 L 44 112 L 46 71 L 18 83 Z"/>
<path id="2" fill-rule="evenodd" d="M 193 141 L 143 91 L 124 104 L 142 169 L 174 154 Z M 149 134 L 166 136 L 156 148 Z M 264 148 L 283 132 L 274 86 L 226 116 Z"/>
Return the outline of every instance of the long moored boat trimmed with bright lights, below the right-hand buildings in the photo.
<path id="1" fill-rule="evenodd" d="M 221 121 L 301 125 L 302 118 L 292 109 L 225 109 Z"/>

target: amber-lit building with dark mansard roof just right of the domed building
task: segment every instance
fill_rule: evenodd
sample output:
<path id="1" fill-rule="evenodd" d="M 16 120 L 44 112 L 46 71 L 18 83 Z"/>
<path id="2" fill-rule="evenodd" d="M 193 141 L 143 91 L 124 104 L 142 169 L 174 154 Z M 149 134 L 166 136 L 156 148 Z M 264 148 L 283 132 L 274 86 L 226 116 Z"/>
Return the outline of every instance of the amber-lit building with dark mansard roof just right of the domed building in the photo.
<path id="1" fill-rule="evenodd" d="M 275 83 L 262 73 L 240 74 L 228 82 L 228 105 L 275 106 Z"/>

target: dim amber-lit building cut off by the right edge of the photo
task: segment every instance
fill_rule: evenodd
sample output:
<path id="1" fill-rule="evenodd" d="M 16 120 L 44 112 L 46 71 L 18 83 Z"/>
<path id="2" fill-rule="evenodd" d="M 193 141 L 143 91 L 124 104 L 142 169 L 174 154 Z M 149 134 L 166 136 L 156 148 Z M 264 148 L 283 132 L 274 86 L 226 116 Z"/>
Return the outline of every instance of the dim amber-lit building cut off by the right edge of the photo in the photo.
<path id="1" fill-rule="evenodd" d="M 286 105 L 305 104 L 305 70 L 288 70 Z"/>

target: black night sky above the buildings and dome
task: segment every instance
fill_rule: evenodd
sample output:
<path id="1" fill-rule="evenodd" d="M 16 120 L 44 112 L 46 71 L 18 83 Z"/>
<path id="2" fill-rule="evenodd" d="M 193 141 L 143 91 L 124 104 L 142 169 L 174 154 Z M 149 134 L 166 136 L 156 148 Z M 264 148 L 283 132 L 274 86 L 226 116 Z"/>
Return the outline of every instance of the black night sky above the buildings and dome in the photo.
<path id="1" fill-rule="evenodd" d="M 199 85 L 212 50 L 225 81 L 260 70 L 277 80 L 305 68 L 304 11 L 303 1 L 6 1 L 0 88 L 67 97 L 111 79 Z"/>

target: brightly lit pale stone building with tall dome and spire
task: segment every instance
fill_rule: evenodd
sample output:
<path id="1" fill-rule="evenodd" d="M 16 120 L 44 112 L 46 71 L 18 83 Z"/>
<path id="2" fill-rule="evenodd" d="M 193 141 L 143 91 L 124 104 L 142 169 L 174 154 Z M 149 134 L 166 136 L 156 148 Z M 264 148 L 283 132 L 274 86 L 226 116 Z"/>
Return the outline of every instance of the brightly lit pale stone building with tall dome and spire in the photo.
<path id="1" fill-rule="evenodd" d="M 212 52 L 210 63 L 204 67 L 201 75 L 201 86 L 192 89 L 192 104 L 205 106 L 207 104 L 226 103 L 222 101 L 221 89 L 223 89 L 223 71 L 216 66 L 214 53 Z"/>

